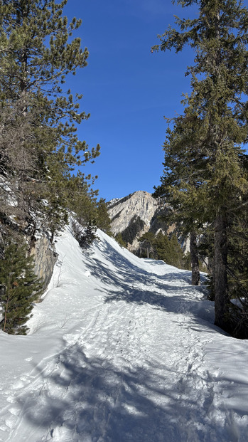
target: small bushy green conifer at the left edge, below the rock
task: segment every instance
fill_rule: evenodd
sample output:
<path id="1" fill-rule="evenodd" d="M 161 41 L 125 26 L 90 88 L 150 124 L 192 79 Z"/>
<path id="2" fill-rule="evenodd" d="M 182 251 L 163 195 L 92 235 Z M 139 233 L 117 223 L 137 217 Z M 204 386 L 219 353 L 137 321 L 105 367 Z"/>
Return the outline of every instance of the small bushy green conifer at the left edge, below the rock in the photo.
<path id="1" fill-rule="evenodd" d="M 1 330 L 10 335 L 26 335 L 24 325 L 31 315 L 32 302 L 43 286 L 33 272 L 33 259 L 25 246 L 10 243 L 0 261 L 0 302 L 3 309 Z"/>

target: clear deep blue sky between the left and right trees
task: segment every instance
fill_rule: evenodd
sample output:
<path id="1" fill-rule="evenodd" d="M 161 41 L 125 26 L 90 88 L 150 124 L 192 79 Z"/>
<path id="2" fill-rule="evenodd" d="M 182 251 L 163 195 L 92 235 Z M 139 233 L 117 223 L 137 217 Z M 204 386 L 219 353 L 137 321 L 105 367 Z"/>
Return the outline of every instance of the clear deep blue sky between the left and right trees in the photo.
<path id="1" fill-rule="evenodd" d="M 170 0 L 68 0 L 68 18 L 82 19 L 75 33 L 90 51 L 88 65 L 73 77 L 89 120 L 78 130 L 101 155 L 83 172 L 98 175 L 95 188 L 107 201 L 137 190 L 152 192 L 163 173 L 166 121 L 182 111 L 189 90 L 184 72 L 193 53 L 151 53 L 157 35 L 187 10 Z M 68 86 L 71 86 L 70 80 Z"/>

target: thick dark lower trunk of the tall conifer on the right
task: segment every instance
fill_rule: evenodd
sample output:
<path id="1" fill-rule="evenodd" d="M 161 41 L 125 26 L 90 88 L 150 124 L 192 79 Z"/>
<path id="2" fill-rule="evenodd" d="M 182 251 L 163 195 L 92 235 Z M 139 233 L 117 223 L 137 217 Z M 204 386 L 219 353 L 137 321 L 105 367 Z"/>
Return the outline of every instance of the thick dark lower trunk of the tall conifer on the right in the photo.
<path id="1" fill-rule="evenodd" d="M 215 219 L 215 325 L 230 331 L 229 300 L 227 290 L 227 219 L 218 214 Z"/>

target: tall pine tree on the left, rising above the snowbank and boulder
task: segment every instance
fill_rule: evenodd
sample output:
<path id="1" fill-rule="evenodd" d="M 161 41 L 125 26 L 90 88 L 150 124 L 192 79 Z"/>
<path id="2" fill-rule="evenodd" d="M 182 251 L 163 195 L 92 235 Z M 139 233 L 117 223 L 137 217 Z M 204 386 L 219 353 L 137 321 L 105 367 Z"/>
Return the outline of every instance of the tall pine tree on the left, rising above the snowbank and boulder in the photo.
<path id="1" fill-rule="evenodd" d="M 72 38 L 81 20 L 68 23 L 63 16 L 66 3 L 0 1 L 3 209 L 15 211 L 20 223 L 44 214 L 53 231 L 65 222 L 70 172 L 99 154 L 99 145 L 90 150 L 77 138 L 77 125 L 90 116 L 79 110 L 82 95 L 64 90 L 67 76 L 84 68 L 88 57 L 80 38 Z M 49 205 L 56 212 L 51 219 Z"/>

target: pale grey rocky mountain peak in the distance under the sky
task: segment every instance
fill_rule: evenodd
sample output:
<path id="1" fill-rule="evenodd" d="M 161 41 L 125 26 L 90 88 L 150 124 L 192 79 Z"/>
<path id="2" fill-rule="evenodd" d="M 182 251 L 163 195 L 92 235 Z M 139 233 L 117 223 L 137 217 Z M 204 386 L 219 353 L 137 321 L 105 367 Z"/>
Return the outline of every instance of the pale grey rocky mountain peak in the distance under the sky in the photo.
<path id="1" fill-rule="evenodd" d="M 109 201 L 108 213 L 112 220 L 112 233 L 128 243 L 129 251 L 139 254 L 138 239 L 147 231 L 167 231 L 168 226 L 158 219 L 164 209 L 158 200 L 146 191 L 136 191 L 122 199 Z"/>

